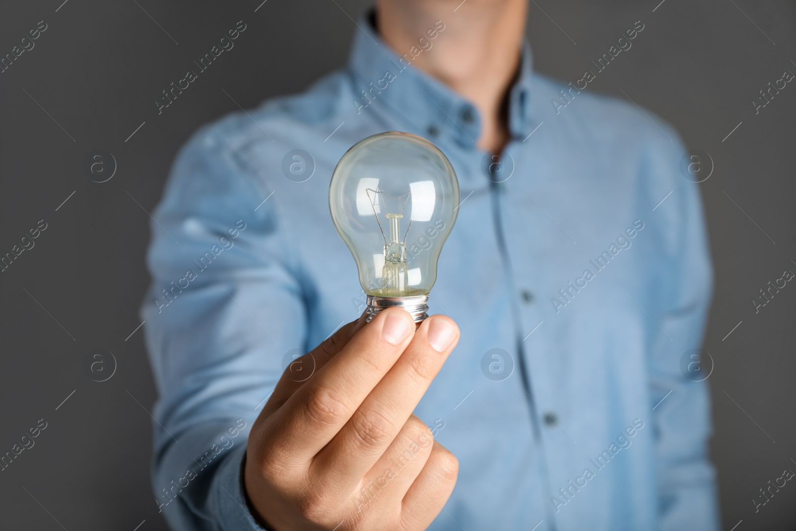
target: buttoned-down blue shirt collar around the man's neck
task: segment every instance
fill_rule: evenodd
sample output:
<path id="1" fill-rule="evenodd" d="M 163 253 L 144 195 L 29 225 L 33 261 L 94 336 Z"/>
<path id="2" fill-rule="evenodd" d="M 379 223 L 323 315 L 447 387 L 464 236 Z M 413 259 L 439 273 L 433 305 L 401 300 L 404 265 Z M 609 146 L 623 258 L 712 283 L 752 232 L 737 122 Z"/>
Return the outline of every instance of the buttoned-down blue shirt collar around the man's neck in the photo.
<path id="1" fill-rule="evenodd" d="M 445 38 L 444 25 L 443 29 L 429 28 L 431 33 L 423 36 L 422 42 L 418 39 L 400 55 L 381 39 L 372 20 L 373 12 L 357 24 L 349 55 L 357 113 L 387 107 L 408 122 L 408 132 L 435 143 L 452 139 L 463 148 L 475 150 L 481 119 L 473 103 L 412 64 L 421 53 L 434 53 L 435 41 Z M 432 34 L 436 37 L 431 38 Z M 532 72 L 531 48 L 525 41 L 520 71 L 509 92 L 509 131 L 514 138 L 523 139 L 531 130 Z"/>

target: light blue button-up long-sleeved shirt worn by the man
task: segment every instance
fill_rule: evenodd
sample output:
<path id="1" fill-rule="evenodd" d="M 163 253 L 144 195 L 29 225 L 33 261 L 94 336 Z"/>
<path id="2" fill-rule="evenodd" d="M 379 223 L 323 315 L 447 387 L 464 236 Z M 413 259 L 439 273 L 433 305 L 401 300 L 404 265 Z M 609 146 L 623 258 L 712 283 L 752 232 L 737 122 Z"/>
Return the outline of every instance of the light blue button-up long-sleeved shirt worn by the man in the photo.
<path id="1" fill-rule="evenodd" d="M 360 26 L 345 68 L 198 131 L 154 212 L 142 318 L 170 525 L 260 529 L 248 430 L 283 360 L 365 309 L 332 170 L 358 140 L 407 131 L 447 154 L 462 201 L 430 301 L 461 339 L 416 408 L 460 463 L 429 529 L 718 529 L 708 389 L 681 370 L 712 271 L 677 133 L 534 73 L 526 45 L 490 174 L 478 111 L 411 64 L 444 24 L 405 56 Z"/>

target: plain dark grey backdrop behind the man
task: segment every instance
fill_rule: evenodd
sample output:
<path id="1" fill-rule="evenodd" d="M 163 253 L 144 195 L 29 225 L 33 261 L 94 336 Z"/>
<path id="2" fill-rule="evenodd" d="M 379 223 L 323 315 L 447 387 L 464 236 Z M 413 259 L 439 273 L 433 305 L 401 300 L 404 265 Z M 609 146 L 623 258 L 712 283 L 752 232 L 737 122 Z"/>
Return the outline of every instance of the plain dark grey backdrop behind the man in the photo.
<path id="1" fill-rule="evenodd" d="M 256 12 L 261 0 L 61 2 L 0 8 L 2 55 L 38 21 L 48 24 L 0 74 L 0 255 L 37 221 L 48 224 L 0 273 L 0 454 L 37 420 L 48 423 L 0 472 L 0 529 L 133 531 L 142 521 L 139 531 L 166 529 L 150 492 L 154 385 L 141 330 L 131 335 L 149 281 L 145 209 L 157 203 L 191 132 L 238 109 L 222 89 L 252 107 L 305 88 L 343 64 L 357 31 L 349 15 L 367 2 L 269 0 Z M 783 469 L 796 470 L 796 287 L 789 283 L 758 314 L 751 300 L 786 268 L 796 271 L 796 83 L 758 115 L 751 100 L 783 71 L 796 72 L 796 6 L 658 2 L 531 3 L 535 66 L 574 82 L 635 21 L 646 25 L 588 90 L 624 91 L 715 162 L 700 188 L 716 271 L 704 349 L 715 362 L 712 459 L 723 529 L 739 521 L 737 531 L 793 529 L 796 486 L 788 482 L 759 513 L 751 500 Z M 161 91 L 239 20 L 248 29 L 235 48 L 158 115 Z M 84 174 L 93 149 L 118 163 L 109 182 Z M 84 371 L 95 348 L 117 362 L 108 381 Z"/>

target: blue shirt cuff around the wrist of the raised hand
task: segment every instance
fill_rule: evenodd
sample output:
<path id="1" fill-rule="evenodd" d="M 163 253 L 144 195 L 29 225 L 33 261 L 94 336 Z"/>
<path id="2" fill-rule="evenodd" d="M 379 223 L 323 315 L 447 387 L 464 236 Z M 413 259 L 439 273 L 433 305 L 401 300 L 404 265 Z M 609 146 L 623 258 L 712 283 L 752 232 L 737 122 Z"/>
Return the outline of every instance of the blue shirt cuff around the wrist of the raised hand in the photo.
<path id="1" fill-rule="evenodd" d="M 246 446 L 232 450 L 217 471 L 215 484 L 218 523 L 224 531 L 269 531 L 259 525 L 248 510 L 244 490 Z"/>

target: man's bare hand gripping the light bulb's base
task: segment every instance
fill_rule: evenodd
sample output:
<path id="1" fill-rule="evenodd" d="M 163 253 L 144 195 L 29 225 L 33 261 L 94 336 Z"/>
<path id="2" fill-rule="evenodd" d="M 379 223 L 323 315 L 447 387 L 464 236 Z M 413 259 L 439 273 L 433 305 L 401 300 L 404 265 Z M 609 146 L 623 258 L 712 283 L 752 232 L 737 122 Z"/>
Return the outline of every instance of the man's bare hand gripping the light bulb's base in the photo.
<path id="1" fill-rule="evenodd" d="M 275 531 L 417 531 L 450 497 L 458 461 L 412 414 L 458 327 L 433 315 L 415 330 L 398 308 L 344 326 L 294 364 L 252 426 L 244 484 Z"/>

